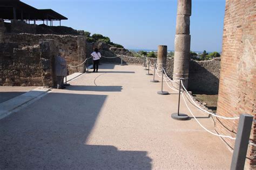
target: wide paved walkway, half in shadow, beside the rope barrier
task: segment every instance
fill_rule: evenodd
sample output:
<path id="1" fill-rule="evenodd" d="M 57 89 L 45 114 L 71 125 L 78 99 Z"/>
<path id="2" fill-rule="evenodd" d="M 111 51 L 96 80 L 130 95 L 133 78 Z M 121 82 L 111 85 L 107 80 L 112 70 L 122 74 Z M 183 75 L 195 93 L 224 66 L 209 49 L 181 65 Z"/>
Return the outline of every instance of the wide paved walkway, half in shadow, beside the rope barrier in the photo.
<path id="1" fill-rule="evenodd" d="M 0 120 L 0 169 L 230 168 L 223 141 L 194 119 L 172 119 L 178 95 L 158 95 L 142 66 L 100 68 Z M 180 110 L 188 114 L 183 102 Z"/>

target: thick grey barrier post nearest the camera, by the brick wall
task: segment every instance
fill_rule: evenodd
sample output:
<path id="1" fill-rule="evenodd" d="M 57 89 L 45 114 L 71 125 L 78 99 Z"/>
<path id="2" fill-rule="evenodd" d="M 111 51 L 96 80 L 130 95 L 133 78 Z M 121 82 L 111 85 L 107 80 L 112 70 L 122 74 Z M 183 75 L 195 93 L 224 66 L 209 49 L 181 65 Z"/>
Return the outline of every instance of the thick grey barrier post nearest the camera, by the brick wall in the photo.
<path id="1" fill-rule="evenodd" d="M 252 122 L 252 115 L 241 114 L 239 117 L 237 137 L 235 137 L 235 146 L 230 168 L 231 170 L 244 169 Z"/>

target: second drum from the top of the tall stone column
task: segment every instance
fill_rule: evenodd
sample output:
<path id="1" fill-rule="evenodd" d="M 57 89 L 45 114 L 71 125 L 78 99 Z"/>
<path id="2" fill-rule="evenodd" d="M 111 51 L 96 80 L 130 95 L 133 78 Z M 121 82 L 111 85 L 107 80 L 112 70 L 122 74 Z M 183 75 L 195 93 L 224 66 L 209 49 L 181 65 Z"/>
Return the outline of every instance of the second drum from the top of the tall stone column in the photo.
<path id="1" fill-rule="evenodd" d="M 190 16 L 177 15 L 176 34 L 190 34 Z"/>

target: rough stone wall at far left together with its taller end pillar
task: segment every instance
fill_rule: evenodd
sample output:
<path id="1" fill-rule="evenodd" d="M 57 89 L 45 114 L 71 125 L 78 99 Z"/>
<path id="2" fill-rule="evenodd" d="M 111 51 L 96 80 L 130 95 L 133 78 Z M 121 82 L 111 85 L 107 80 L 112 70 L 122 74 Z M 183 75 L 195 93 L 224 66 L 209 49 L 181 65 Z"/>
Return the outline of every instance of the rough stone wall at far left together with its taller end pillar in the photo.
<path id="1" fill-rule="evenodd" d="M 0 86 L 54 87 L 57 53 L 54 40 L 23 48 L 15 42 L 0 42 Z"/>

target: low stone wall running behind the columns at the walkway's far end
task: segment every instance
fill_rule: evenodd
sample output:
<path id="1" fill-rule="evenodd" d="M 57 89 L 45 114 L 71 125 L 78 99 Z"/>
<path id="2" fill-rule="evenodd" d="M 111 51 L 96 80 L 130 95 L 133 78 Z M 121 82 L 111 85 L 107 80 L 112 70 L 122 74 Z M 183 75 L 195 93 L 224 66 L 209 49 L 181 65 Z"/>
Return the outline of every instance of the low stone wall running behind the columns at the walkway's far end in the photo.
<path id="1" fill-rule="evenodd" d="M 104 55 L 104 53 L 103 53 Z M 120 63 L 123 57 L 124 64 L 143 65 L 144 58 L 136 58 L 125 55 L 117 55 L 118 58 L 102 58 L 100 62 Z M 151 63 L 155 63 L 157 58 L 149 58 Z M 166 74 L 172 78 L 173 76 L 173 58 L 167 58 Z M 195 61 L 190 60 L 190 71 L 188 77 L 188 90 L 197 91 L 205 94 L 218 94 L 220 78 L 220 59 Z"/>

